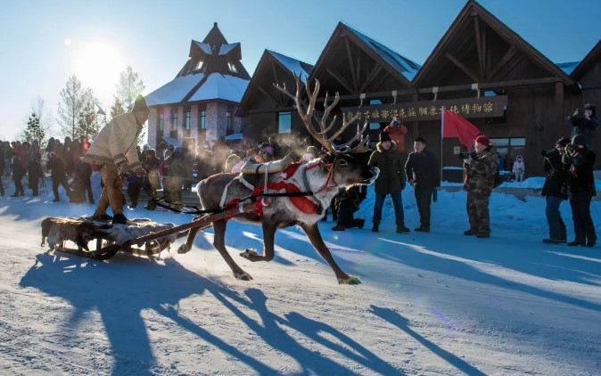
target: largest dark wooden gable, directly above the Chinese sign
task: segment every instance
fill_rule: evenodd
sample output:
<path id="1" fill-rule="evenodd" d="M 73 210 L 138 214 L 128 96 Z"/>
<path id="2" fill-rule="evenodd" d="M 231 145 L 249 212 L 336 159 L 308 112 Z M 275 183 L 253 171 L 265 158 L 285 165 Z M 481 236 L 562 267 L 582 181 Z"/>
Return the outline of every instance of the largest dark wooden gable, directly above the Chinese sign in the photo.
<path id="1" fill-rule="evenodd" d="M 495 37 L 496 42 L 507 46 L 504 54 L 493 57 L 492 63 L 497 65 L 492 67 L 487 67 L 490 64 L 486 61 L 487 59 L 482 58 L 485 53 L 490 53 L 482 47 L 486 43 L 483 39 L 483 29 L 487 29 L 492 33 L 491 36 L 487 33 L 487 37 Z M 465 45 L 466 43 L 470 43 L 470 45 Z M 497 47 L 498 43 L 487 45 L 488 50 Z M 458 56 L 455 53 L 462 53 L 464 56 Z M 463 57 L 467 61 L 478 61 L 477 66 L 467 66 L 465 60 L 462 59 Z M 521 57 L 531 61 L 531 66 L 539 69 L 540 72 L 546 72 L 545 76 L 560 78 L 568 86 L 574 85 L 572 78 L 557 67 L 555 63 L 549 61 L 547 57 L 539 53 L 512 29 L 509 29 L 503 22 L 484 9 L 482 5 L 474 0 L 468 0 L 447 33 L 440 39 L 438 45 L 424 62 L 424 66 L 417 73 L 413 84 L 416 87 L 432 85 L 432 83 L 424 82 L 426 78 L 431 79 L 431 76 L 440 76 L 441 71 L 449 71 L 449 64 L 451 64 L 451 67 L 461 67 L 465 71 L 466 81 L 472 83 L 487 82 L 488 79 L 494 78 L 496 75 L 504 74 L 510 61 L 518 64 L 518 58 Z M 443 67 L 446 67 L 446 69 L 443 69 Z M 486 77 L 487 75 L 491 77 Z"/>

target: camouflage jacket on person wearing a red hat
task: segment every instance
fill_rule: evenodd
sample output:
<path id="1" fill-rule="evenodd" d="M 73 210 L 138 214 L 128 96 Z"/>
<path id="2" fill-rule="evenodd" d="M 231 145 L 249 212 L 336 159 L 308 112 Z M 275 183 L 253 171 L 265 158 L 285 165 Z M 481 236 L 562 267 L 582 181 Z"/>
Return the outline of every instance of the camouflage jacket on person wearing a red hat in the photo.
<path id="1" fill-rule="evenodd" d="M 497 153 L 489 146 L 477 158 L 472 158 L 469 164 L 464 163 L 465 184 L 464 191 L 473 193 L 490 194 L 495 184 L 497 171 Z"/>

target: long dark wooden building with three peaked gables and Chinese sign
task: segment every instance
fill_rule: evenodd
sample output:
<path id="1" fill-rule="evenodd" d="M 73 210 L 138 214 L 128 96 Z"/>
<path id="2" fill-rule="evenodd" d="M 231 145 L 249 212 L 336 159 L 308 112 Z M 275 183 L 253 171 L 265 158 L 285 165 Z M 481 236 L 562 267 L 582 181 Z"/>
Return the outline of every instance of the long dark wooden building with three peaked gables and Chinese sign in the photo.
<path id="1" fill-rule="evenodd" d="M 444 106 L 490 137 L 504 168 L 511 169 L 515 156 L 523 155 L 526 175 L 541 176 L 540 151 L 570 134 L 566 116 L 584 102 L 598 101 L 600 50 L 597 44 L 580 63 L 556 64 L 480 4 L 468 0 L 424 66 L 339 23 L 315 67 L 307 72 L 306 82 L 313 85 L 317 78 L 323 93 L 339 92 L 341 102 L 334 112 L 360 112 L 359 122 L 370 123 L 372 140 L 399 113 L 409 128 L 406 150 L 422 135 L 442 166 L 458 167 L 457 153 L 465 147 L 457 139 L 441 140 Z M 238 112 L 246 119 L 244 135 L 276 134 L 278 114 L 287 112 L 292 116 L 292 132 L 302 138 L 308 134 L 292 101 L 271 92 L 271 85 L 279 81 L 293 88 L 292 73 L 278 76 L 277 62 L 270 66 L 267 55 L 259 62 Z M 357 129 L 352 128 L 347 137 Z"/>

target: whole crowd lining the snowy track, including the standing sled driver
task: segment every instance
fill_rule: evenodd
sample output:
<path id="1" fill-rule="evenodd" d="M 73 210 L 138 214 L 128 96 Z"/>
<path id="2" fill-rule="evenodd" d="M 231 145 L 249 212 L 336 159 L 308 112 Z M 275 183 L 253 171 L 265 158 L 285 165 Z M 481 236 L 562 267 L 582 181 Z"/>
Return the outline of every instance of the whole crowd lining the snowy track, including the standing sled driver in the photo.
<path id="1" fill-rule="evenodd" d="M 144 145 L 135 146 L 137 137 L 148 119 L 148 107 L 144 98 L 136 99 L 131 112 L 119 115 L 103 127 L 93 143 L 85 137 L 71 140 L 65 137 L 63 142 L 51 138 L 45 148 L 37 142 L 20 143 L 18 141 L 0 144 L 0 175 L 11 176 L 14 182 L 12 197 L 25 195 L 21 184 L 23 176 L 28 176 L 32 196 L 39 194 L 40 184 L 45 184 L 45 172 L 52 182 L 54 201 L 60 201 L 59 188 L 62 187 L 71 202 L 95 203 L 91 176 L 99 171 L 102 181 L 102 194 L 98 198 L 95 219 L 112 220 L 113 223 L 127 224 L 123 215 L 123 206 L 127 199 L 123 188 L 127 185 L 129 207 L 136 208 L 140 192 L 151 195 L 163 190 L 165 197 L 176 208 L 182 205 L 182 192 L 190 191 L 193 184 L 203 178 L 222 172 L 238 173 L 243 164 L 252 159 L 266 163 L 292 155 L 298 162 L 308 162 L 319 158 L 322 150 L 309 145 L 304 153 L 292 150 L 290 143 L 279 144 L 272 141 L 252 143 L 243 140 L 235 150 L 222 137 L 214 143 L 205 141 L 199 147 L 182 143 L 181 146 L 161 142 L 155 148 Z M 567 119 L 572 127 L 570 137 L 557 140 L 555 147 L 542 151 L 545 163 L 545 184 L 542 196 L 546 198 L 546 217 L 549 236 L 546 243 L 567 243 L 570 246 L 593 247 L 597 234 L 590 216 L 590 202 L 597 194 L 593 166 L 596 154 L 593 151 L 595 134 L 599 126 L 595 106 L 587 104 L 576 110 Z M 403 120 L 394 117 L 379 134 L 374 151 L 358 155 L 359 159 L 380 169 L 375 180 L 375 203 L 373 208 L 372 231 L 379 232 L 382 221 L 384 200 L 391 196 L 397 233 L 410 233 L 405 225 L 401 192 L 406 184 L 414 188 L 420 225 L 416 232 L 429 233 L 431 229 L 431 203 L 436 200 L 440 187 L 440 166 L 432 151 L 427 150 L 424 137 L 416 137 L 413 151 L 404 152 L 404 137 L 408 129 Z M 116 140 L 119 142 L 116 142 Z M 126 143 L 123 143 L 126 140 Z M 342 137 L 335 140 L 342 144 Z M 119 149 L 119 145 L 128 144 L 129 148 Z M 303 149 L 304 150 L 304 149 Z M 486 135 L 478 135 L 473 151 L 460 154 L 464 159 L 466 212 L 469 228 L 465 235 L 478 238 L 490 237 L 490 194 L 495 184 L 498 170 L 498 154 Z M 43 163 L 45 161 L 45 163 Z M 515 180 L 523 181 L 524 163 L 517 156 L 513 165 Z M 4 196 L 4 185 L 0 183 L 0 194 Z M 354 215 L 366 199 L 366 187 L 351 187 L 335 197 L 330 208 L 336 225 L 333 231 L 345 231 L 350 228 L 363 228 L 366 219 Z M 572 208 L 574 240 L 567 241 L 564 221 L 560 214 L 563 200 L 569 200 Z M 107 214 L 111 207 L 112 217 Z M 144 208 L 154 210 L 156 204 L 149 200 Z M 325 219 L 325 218 L 324 218 Z"/>

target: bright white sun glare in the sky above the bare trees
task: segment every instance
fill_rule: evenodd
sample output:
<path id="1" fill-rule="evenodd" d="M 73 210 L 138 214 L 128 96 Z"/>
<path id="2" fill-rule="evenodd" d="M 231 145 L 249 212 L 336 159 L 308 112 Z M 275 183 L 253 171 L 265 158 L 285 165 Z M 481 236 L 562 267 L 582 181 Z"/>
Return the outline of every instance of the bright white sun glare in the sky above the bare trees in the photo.
<path id="1" fill-rule="evenodd" d="M 76 76 L 91 88 L 96 96 L 114 91 L 119 73 L 125 69 L 117 50 L 104 43 L 85 45 L 76 61 Z"/>

